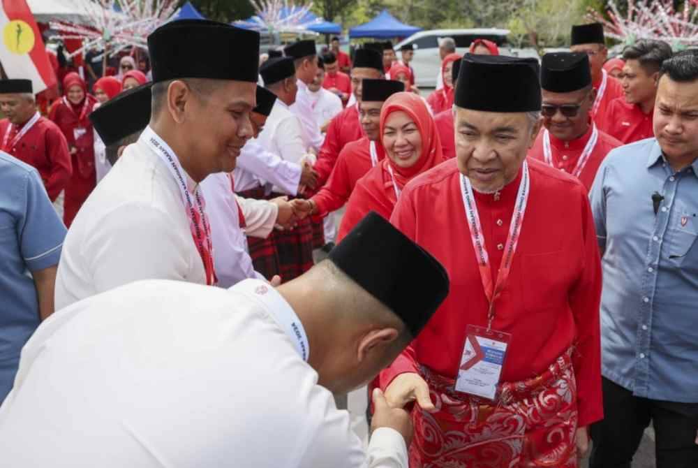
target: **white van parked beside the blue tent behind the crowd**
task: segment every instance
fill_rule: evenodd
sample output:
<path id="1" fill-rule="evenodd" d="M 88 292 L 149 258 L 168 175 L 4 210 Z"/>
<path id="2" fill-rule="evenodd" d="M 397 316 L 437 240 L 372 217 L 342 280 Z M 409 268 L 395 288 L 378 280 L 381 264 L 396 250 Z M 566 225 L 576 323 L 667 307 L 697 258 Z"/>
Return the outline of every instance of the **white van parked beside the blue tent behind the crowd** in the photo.
<path id="1" fill-rule="evenodd" d="M 441 38 L 450 37 L 456 41 L 456 52 L 465 54 L 470 43 L 475 39 L 487 39 L 496 43 L 503 55 L 519 55 L 513 53 L 507 44 L 508 29 L 431 29 L 419 31 L 395 46 L 396 54 L 400 57 L 400 47 L 412 44 L 415 57 L 410 64 L 415 70 L 415 81 L 418 87 L 436 87 L 436 78 L 441 70 L 441 59 L 438 54 L 438 42 Z"/>

